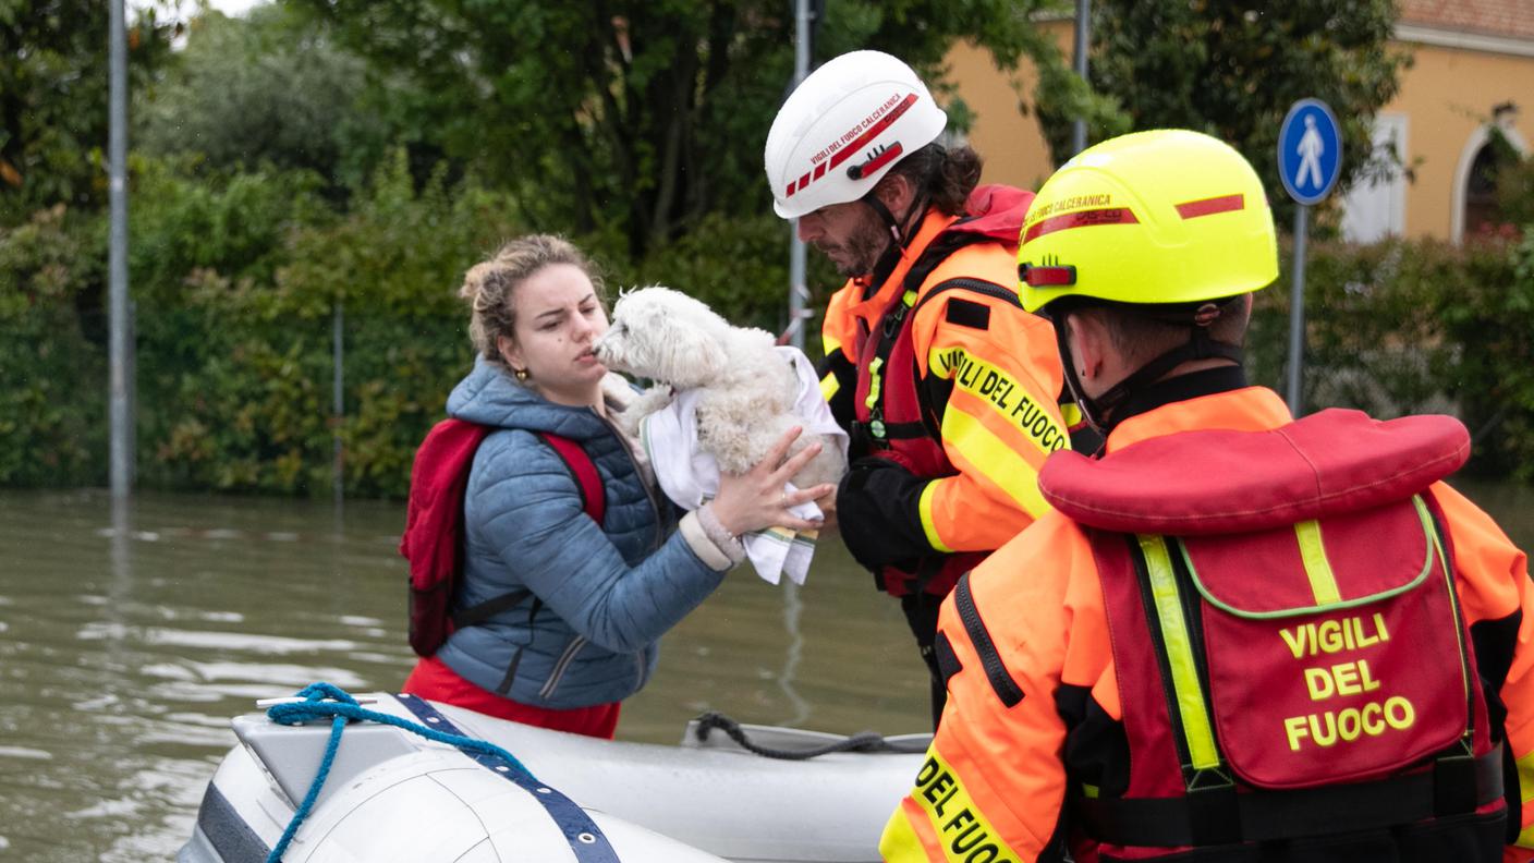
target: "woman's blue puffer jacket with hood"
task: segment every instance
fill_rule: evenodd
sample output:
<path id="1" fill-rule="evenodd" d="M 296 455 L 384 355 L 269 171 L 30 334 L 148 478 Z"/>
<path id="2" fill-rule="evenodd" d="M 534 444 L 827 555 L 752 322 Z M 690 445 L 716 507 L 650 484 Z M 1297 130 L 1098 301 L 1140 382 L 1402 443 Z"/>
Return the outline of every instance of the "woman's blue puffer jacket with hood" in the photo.
<path id="1" fill-rule="evenodd" d="M 453 671 L 515 702 L 578 708 L 632 696 L 655 671 L 661 634 L 724 577 L 693 553 L 673 510 L 647 487 L 618 432 L 584 407 L 548 402 L 479 361 L 448 415 L 497 427 L 474 455 L 463 502 L 457 605 L 531 590 L 437 651 Z M 535 432 L 586 448 L 606 488 L 598 528 L 565 462 Z M 669 534 L 669 536 L 667 536 Z"/>

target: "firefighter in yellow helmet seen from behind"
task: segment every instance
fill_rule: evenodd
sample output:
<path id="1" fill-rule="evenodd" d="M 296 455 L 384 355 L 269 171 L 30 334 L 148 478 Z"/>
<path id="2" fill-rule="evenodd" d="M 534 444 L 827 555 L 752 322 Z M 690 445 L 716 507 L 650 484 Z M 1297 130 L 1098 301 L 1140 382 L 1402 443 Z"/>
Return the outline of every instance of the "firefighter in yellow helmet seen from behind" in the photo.
<path id="1" fill-rule="evenodd" d="M 1039 192 L 1022 299 L 1103 455 L 943 603 L 950 700 L 894 861 L 1528 860 L 1534 590 L 1442 479 L 1457 421 L 1290 418 L 1249 387 L 1278 275 L 1250 164 L 1195 132 Z"/>

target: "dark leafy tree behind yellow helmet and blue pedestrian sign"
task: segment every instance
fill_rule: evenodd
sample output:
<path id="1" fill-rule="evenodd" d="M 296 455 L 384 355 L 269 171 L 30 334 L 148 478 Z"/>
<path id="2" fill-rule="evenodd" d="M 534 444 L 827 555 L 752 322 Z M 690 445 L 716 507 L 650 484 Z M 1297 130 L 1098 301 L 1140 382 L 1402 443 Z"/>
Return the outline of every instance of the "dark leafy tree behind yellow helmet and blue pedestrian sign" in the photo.
<path id="1" fill-rule="evenodd" d="M 1387 48 L 1396 14 L 1393 0 L 1095 0 L 1091 84 L 1135 129 L 1198 129 L 1230 141 L 1270 190 L 1282 189 L 1275 152 L 1284 114 L 1299 98 L 1321 98 L 1342 126 L 1345 189 L 1367 169 L 1374 114 L 1410 63 Z M 1068 158 L 1072 114 L 1043 95 L 1051 150 Z M 1272 201 L 1292 212 L 1282 195 Z"/>

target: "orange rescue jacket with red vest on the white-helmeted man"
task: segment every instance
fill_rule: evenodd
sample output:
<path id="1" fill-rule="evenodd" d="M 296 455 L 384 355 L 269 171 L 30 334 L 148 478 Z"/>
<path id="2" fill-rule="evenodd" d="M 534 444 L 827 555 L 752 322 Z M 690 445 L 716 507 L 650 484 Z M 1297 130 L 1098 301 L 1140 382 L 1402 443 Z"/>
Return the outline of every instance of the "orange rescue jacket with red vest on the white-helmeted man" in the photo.
<path id="1" fill-rule="evenodd" d="M 971 210 L 976 221 L 991 210 L 1020 213 L 1029 198 L 982 187 Z M 936 266 L 923 260 L 968 227 L 968 220 L 928 212 L 884 283 L 876 290 L 859 281 L 844 286 L 824 324 L 830 373 L 822 392 L 833 408 L 841 402 L 839 419 L 864 432 L 884 421 L 914 428 L 905 436 L 862 435 L 853 451 L 854 461 L 888 458 L 925 481 L 899 501 L 881 502 L 900 510 L 890 522 L 910 525 L 917 536 L 904 539 L 922 550 L 919 567 L 881 568 L 882 587 L 896 596 L 946 594 L 983 553 L 1043 513 L 1039 468 L 1069 442 L 1054 332 L 1006 296 L 1017 281 L 1016 241 L 977 236 Z M 927 275 L 910 290 L 917 266 Z M 974 287 L 954 287 L 956 279 Z M 881 338 L 887 324 L 890 338 Z M 844 533 L 856 528 L 848 525 L 856 511 L 842 508 Z M 980 554 L 956 554 L 966 551 Z"/>

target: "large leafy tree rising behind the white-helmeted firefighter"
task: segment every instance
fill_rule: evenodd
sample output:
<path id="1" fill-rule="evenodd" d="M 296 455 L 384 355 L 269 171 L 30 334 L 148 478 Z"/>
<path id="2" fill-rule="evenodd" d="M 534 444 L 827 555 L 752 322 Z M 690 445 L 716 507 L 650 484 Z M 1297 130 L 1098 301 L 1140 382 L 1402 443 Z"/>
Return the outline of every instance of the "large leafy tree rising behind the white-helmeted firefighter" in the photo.
<path id="1" fill-rule="evenodd" d="M 414 75 L 422 129 L 514 187 L 528 224 L 621 236 L 634 258 L 707 213 L 767 207 L 761 147 L 793 71 L 787 0 L 290 0 L 376 69 Z M 818 57 L 890 51 L 930 78 L 954 38 L 1032 57 L 1085 103 L 1028 18 L 1043 0 L 839 0 Z"/>

